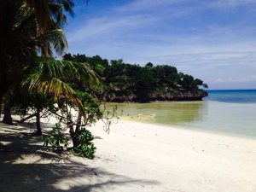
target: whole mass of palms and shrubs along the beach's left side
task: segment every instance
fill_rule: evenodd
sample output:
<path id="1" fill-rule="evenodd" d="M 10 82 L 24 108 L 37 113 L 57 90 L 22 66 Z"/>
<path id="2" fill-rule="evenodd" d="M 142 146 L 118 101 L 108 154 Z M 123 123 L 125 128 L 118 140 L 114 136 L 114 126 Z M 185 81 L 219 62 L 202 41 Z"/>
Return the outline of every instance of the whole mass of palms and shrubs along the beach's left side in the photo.
<path id="1" fill-rule="evenodd" d="M 9 125 L 13 112 L 24 117 L 21 122 L 35 117 L 39 136 L 40 119 L 55 116 L 60 123 L 46 133 L 44 144 L 61 153 L 71 140 L 73 153 L 91 159 L 96 148 L 86 126 L 104 118 L 102 86 L 88 64 L 53 59 L 53 53 L 62 55 L 67 49 L 62 27 L 66 14 L 73 15 L 73 4 L 72 0 L 0 2 L 0 106 L 3 103 L 3 123 Z"/>

